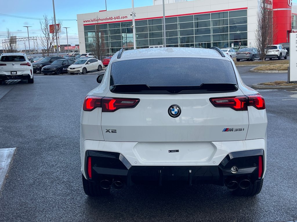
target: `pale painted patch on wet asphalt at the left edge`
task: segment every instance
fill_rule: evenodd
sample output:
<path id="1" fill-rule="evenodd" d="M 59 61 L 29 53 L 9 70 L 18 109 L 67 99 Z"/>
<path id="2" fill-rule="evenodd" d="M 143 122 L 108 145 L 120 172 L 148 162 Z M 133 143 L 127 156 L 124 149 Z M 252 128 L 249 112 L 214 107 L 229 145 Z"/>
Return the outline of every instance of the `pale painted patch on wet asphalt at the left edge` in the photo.
<path id="1" fill-rule="evenodd" d="M 0 190 L 4 183 L 16 147 L 0 149 Z"/>

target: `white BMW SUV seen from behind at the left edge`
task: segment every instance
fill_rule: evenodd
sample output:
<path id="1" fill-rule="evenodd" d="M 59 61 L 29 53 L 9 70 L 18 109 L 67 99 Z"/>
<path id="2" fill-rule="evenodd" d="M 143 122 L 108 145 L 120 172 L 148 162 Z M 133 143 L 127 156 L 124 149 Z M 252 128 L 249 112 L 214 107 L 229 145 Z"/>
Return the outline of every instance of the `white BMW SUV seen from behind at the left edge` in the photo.
<path id="1" fill-rule="evenodd" d="M 33 67 L 25 53 L 0 55 L 0 85 L 5 80 L 21 79 L 34 83 Z"/>

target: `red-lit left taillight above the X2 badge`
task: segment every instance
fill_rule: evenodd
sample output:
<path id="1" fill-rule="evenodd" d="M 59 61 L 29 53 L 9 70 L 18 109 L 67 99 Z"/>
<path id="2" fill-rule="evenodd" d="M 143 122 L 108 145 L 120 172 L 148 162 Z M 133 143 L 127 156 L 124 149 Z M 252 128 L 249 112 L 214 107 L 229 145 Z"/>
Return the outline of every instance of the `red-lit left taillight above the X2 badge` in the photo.
<path id="1" fill-rule="evenodd" d="M 114 112 L 121 108 L 134 108 L 140 99 L 110 98 L 102 96 L 86 96 L 83 102 L 84 111 L 92 111 L 101 107 L 102 112 Z"/>

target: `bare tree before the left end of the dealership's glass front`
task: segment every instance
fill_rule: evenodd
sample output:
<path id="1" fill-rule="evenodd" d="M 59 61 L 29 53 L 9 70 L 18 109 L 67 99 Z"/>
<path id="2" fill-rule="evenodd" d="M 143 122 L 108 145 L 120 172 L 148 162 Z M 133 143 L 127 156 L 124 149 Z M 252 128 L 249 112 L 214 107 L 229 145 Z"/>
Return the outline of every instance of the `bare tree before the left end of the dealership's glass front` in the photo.
<path id="1" fill-rule="evenodd" d="M 90 42 L 91 52 L 95 55 L 95 58 L 99 60 L 102 60 L 102 57 L 106 54 L 104 40 L 104 35 L 100 32 L 100 30 L 96 30 L 92 34 Z"/>

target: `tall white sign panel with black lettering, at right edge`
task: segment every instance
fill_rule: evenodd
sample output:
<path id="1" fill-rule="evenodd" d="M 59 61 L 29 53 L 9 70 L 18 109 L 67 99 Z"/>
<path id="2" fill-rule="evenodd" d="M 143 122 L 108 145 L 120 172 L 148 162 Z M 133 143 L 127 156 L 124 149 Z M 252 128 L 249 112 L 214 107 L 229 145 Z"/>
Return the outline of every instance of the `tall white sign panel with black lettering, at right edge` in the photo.
<path id="1" fill-rule="evenodd" d="M 290 70 L 288 82 L 297 82 L 297 33 L 290 33 Z"/>

